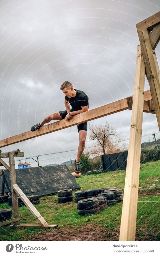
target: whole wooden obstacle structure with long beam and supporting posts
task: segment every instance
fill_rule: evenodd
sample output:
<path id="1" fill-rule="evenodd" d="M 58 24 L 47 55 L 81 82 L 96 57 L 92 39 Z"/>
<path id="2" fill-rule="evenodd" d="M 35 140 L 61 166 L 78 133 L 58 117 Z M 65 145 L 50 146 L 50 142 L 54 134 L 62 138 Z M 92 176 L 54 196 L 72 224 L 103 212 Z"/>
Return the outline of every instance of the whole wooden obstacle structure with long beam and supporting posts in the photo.
<path id="1" fill-rule="evenodd" d="M 125 109 L 132 109 L 119 241 L 135 240 L 143 112 L 156 114 L 158 127 L 160 129 L 160 71 L 155 54 L 155 47 L 160 40 L 160 12 L 152 15 L 144 21 L 141 21 L 136 26 L 140 39 L 140 45 L 137 47 L 137 62 L 133 96 L 78 114 L 72 117 L 70 122 L 61 120 L 49 125 L 45 125 L 35 132 L 24 132 L 0 141 L 1 148 L 20 141 L 25 141 L 34 137 L 48 134 L 53 131 L 58 131 L 73 125 L 111 115 Z M 145 74 L 149 82 L 150 90 L 144 92 Z M 15 167 L 13 168 L 13 151 L 11 155 L 10 168 L 11 175 L 13 175 L 15 169 Z M 0 159 L 0 163 L 3 164 L 2 161 L 3 160 Z M 17 213 L 18 203 L 16 203 L 17 194 L 20 195 L 22 200 L 24 200 L 24 203 L 26 202 L 27 198 L 25 198 L 23 192 L 17 188 L 15 180 L 12 181 L 12 191 L 14 198 L 14 217 L 17 218 L 19 216 Z M 31 208 L 28 201 L 26 202 L 26 205 L 28 208 Z M 38 213 L 36 213 L 35 216 L 41 223 L 41 227 L 47 226 Z"/>

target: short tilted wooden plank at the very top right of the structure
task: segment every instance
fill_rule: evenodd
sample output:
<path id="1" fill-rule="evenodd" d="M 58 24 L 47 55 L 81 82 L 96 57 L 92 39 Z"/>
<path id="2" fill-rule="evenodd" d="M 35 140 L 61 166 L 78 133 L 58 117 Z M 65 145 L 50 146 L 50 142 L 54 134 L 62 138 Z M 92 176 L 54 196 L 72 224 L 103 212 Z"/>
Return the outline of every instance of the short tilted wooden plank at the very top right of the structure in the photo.
<path id="1" fill-rule="evenodd" d="M 159 22 L 160 22 L 160 11 L 146 18 L 144 21 L 140 21 L 139 23 L 137 23 L 136 24 L 137 32 L 146 28 L 148 28 L 148 30 L 152 30 L 153 27 Z"/>

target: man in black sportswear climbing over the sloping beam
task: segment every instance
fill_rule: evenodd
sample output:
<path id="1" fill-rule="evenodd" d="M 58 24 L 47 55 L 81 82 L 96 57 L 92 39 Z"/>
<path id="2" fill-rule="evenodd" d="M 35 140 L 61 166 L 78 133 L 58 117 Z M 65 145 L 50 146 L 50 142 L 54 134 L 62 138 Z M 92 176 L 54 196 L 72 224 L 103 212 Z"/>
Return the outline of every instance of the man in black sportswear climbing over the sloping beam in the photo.
<path id="1" fill-rule="evenodd" d="M 36 131 L 41 128 L 44 124 L 49 123 L 52 120 L 62 120 L 65 119 L 67 122 L 71 119 L 71 116 L 77 115 L 83 112 L 88 111 L 89 103 L 88 96 L 83 91 L 77 90 L 73 88 L 73 85 L 65 81 L 60 90 L 65 94 L 65 108 L 64 111 L 59 111 L 48 115 L 44 118 L 44 120 L 36 125 L 31 127 L 31 131 Z M 70 109 L 71 105 L 71 109 Z M 78 133 L 79 133 L 79 146 L 77 152 L 77 158 L 74 161 L 74 171 L 78 174 L 80 173 L 80 157 L 85 148 L 85 141 L 87 136 L 87 122 L 77 125 Z"/>

